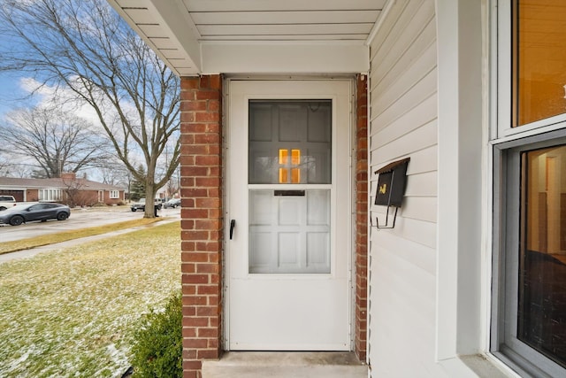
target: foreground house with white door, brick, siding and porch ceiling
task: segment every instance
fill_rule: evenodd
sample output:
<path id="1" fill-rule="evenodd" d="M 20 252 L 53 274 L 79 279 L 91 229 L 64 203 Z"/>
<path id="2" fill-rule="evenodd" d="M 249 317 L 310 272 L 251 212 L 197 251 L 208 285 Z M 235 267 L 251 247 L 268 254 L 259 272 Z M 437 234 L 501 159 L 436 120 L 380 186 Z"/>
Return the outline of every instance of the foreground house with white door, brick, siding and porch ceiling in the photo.
<path id="1" fill-rule="evenodd" d="M 563 0 L 108 2 L 180 76 L 185 378 L 566 376 Z"/>

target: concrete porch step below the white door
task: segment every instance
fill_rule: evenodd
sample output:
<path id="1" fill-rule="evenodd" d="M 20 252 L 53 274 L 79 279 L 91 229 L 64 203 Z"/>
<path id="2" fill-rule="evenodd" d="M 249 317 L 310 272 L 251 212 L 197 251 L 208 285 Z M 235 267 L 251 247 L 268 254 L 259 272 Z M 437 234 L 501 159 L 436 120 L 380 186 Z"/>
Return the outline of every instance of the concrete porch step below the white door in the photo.
<path id="1" fill-rule="evenodd" d="M 368 366 L 338 351 L 230 351 L 203 361 L 203 378 L 367 378 Z"/>

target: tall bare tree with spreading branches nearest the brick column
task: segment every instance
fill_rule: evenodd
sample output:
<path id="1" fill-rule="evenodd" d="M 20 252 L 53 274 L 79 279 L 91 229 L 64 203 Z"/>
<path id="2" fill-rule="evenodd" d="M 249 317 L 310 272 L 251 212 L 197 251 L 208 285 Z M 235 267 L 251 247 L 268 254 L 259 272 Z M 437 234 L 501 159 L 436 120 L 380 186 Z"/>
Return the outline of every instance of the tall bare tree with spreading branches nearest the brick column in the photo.
<path id="1" fill-rule="evenodd" d="M 179 166 L 180 81 L 105 0 L 2 0 L 0 69 L 71 89 L 96 112 L 119 159 L 153 198 Z M 157 160 L 167 141 L 164 174 Z M 145 163 L 145 176 L 136 158 Z M 145 217 L 154 216 L 147 208 Z"/>

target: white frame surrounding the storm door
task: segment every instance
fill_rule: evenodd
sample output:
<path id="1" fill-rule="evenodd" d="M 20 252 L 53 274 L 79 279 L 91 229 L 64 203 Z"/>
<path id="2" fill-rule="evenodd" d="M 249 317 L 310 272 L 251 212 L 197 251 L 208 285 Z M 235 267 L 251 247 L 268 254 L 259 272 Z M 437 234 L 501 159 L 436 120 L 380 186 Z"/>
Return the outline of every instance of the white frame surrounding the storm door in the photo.
<path id="1" fill-rule="evenodd" d="M 228 158 L 228 150 L 230 148 L 230 133 L 233 129 L 231 120 L 230 120 L 230 102 L 231 102 L 231 84 L 233 81 L 317 81 L 317 82 L 348 82 L 349 84 L 349 91 L 348 91 L 348 99 L 349 99 L 349 116 L 348 116 L 348 158 L 349 158 L 349 165 L 348 165 L 348 214 L 350 215 L 348 220 L 348 228 L 346 230 L 346 235 L 344 236 L 347 240 L 348 251 L 347 251 L 347 261 L 348 261 L 348 321 L 349 321 L 349 350 L 355 350 L 355 332 L 356 332 L 356 280 L 355 280 L 355 266 L 356 266 L 356 249 L 355 249 L 355 233 L 356 233 L 356 198 L 354 197 L 355 193 L 355 167 L 354 164 L 354 151 L 356 147 L 356 106 L 355 106 L 355 98 L 356 98 L 356 79 L 352 76 L 347 77 L 340 77 L 336 79 L 328 79 L 328 78 L 285 78 L 281 79 L 279 77 L 276 78 L 253 78 L 253 77 L 246 77 L 246 78 L 239 78 L 239 77 L 230 77 L 226 78 L 224 82 L 224 88 L 226 89 L 223 94 L 223 113 L 225 117 L 223 119 L 226 127 L 225 129 L 225 143 L 224 143 L 224 176 L 226 177 L 225 187 L 226 187 L 226 194 L 223 198 L 225 201 L 224 206 L 224 231 L 225 231 L 225 238 L 224 238 L 224 256 L 223 256 L 223 282 L 222 282 L 222 289 L 223 289 L 223 324 L 222 324 L 222 346 L 224 351 L 230 351 L 230 288 L 229 283 L 231 280 L 231 253 L 230 253 L 230 186 L 231 186 L 231 175 L 233 171 L 231 167 L 233 166 L 233 162 L 230 161 Z M 281 96 L 281 99 L 285 99 L 288 97 Z M 278 99 L 278 98 L 274 98 Z M 333 141 L 333 149 L 336 148 L 335 141 Z"/>

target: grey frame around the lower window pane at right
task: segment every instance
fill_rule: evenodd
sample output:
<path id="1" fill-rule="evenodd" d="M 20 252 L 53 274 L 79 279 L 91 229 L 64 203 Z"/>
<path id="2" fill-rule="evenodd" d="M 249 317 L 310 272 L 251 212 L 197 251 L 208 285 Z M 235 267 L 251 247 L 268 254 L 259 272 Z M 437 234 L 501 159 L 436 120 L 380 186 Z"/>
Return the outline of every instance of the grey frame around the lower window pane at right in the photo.
<path id="1" fill-rule="evenodd" d="M 564 130 L 493 144 L 493 322 L 490 350 L 521 374 L 559 376 L 566 368 L 520 341 L 517 331 L 521 153 L 566 144 Z M 512 247 L 516 246 L 516 247 Z M 510 272 L 510 274 L 509 274 Z M 540 368 L 539 366 L 543 366 Z"/>

